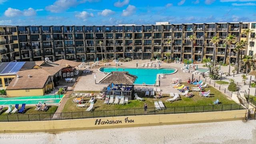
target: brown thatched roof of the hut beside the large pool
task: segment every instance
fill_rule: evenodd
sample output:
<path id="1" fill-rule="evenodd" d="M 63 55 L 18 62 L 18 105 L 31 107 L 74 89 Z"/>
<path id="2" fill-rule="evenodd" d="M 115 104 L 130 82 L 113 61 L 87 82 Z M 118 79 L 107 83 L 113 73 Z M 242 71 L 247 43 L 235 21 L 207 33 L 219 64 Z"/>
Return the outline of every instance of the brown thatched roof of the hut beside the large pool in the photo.
<path id="1" fill-rule="evenodd" d="M 138 78 L 137 76 L 134 76 L 132 74 L 129 74 L 128 72 L 111 72 L 110 74 L 108 74 L 108 76 L 106 76 L 101 83 L 106 83 L 106 84 L 133 84 L 136 80 L 136 78 Z"/>

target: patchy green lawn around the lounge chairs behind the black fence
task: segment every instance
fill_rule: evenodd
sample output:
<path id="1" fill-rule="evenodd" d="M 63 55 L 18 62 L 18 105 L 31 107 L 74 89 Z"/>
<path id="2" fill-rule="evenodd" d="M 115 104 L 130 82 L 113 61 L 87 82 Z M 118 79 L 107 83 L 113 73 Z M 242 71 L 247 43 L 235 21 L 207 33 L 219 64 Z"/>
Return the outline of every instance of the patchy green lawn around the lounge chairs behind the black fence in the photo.
<path id="1" fill-rule="evenodd" d="M 186 86 L 195 87 L 192 84 L 186 84 L 183 83 Z M 167 102 L 166 99 L 170 98 L 169 94 L 163 94 L 164 98 L 160 99 L 154 99 L 152 97 L 145 97 L 144 93 L 137 93 L 138 96 L 143 97 L 145 99 L 144 102 L 139 102 L 138 100 L 129 100 L 129 103 L 126 105 L 113 105 L 113 104 L 103 104 L 104 100 L 96 100 L 94 103 L 95 110 L 94 111 L 100 111 L 100 110 L 122 110 L 122 109 L 136 109 L 136 108 L 144 108 L 144 103 L 146 102 L 148 104 L 148 108 L 154 108 L 154 101 L 162 100 L 164 105 L 168 107 L 178 107 L 178 106 L 211 106 L 213 105 L 213 102 L 219 99 L 220 105 L 221 104 L 236 104 L 233 100 L 230 100 L 229 98 L 226 98 L 224 94 L 222 94 L 220 91 L 216 90 L 213 87 L 204 88 L 202 91 L 208 91 L 210 90 L 210 98 L 204 98 L 199 96 L 199 92 L 193 92 L 192 98 L 186 98 L 184 96 L 181 96 L 181 100 L 178 100 L 176 102 Z M 178 92 L 178 90 L 174 91 Z M 192 92 L 192 91 L 190 91 Z M 85 92 L 88 93 L 88 92 Z M 68 98 L 68 101 L 66 102 L 66 105 L 64 106 L 64 109 L 62 112 L 84 112 L 86 109 L 84 108 L 76 108 L 76 104 L 72 103 L 72 100 L 74 97 Z M 90 100 L 90 98 L 85 98 L 85 101 Z M 87 104 L 89 106 L 89 104 Z"/>

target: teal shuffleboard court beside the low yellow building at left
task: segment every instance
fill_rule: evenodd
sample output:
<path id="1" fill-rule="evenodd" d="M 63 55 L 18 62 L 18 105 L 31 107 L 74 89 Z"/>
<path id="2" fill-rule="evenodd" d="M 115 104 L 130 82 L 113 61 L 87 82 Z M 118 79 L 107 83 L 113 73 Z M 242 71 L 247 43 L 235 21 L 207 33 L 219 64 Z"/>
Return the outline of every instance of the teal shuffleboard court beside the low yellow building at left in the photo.
<path id="1" fill-rule="evenodd" d="M 47 96 L 20 96 L 20 97 L 0 97 L 0 105 L 8 104 L 38 104 L 42 103 L 59 103 L 64 95 L 47 95 Z"/>

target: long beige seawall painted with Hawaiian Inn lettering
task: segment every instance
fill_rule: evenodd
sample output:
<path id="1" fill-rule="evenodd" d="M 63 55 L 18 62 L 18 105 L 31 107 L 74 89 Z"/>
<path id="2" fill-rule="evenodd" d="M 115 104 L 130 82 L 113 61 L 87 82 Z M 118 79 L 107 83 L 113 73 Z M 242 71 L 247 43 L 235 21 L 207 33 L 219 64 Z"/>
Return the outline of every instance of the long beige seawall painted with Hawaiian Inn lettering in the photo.
<path id="1" fill-rule="evenodd" d="M 142 116 L 120 116 L 108 118 L 87 118 L 74 120 L 52 120 L 33 122 L 0 122 L 0 132 L 58 132 L 68 130 L 89 130 L 104 128 L 122 128 L 136 126 L 154 126 L 165 124 L 185 124 L 200 122 L 217 122 L 245 119 L 247 110 L 224 112 L 200 112 L 186 114 L 160 114 Z M 97 122 L 96 122 L 97 120 Z M 100 124 L 99 124 L 100 121 Z M 111 121 L 115 124 L 104 124 Z"/>

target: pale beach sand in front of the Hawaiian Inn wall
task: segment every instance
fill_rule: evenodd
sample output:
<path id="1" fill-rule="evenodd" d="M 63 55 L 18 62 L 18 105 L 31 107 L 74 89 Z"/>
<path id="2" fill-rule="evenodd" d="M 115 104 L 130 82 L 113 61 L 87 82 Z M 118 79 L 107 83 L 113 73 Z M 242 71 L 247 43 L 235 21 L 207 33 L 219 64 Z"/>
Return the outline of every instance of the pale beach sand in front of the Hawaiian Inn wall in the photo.
<path id="1" fill-rule="evenodd" d="M 256 120 L 0 135 L 3 144 L 255 144 Z"/>

